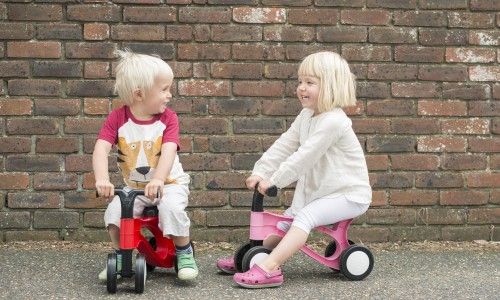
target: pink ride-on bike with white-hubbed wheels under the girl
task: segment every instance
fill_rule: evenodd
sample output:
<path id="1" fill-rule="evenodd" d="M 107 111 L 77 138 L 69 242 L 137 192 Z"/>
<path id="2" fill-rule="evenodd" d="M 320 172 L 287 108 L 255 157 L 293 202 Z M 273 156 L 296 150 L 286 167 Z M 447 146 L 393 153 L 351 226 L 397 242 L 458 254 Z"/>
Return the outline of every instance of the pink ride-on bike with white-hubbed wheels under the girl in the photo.
<path id="1" fill-rule="evenodd" d="M 275 197 L 278 193 L 276 186 L 270 187 L 266 194 Z M 292 222 L 293 218 L 265 212 L 263 209 L 264 195 L 255 189 L 252 210 L 250 215 L 250 241 L 241 245 L 234 255 L 234 263 L 238 272 L 248 271 L 255 263 L 262 261 L 271 249 L 262 246 L 263 241 L 270 235 L 283 237 L 286 232 L 279 229 L 279 222 Z M 334 271 L 340 271 L 351 280 L 362 280 L 373 269 L 373 255 L 364 246 L 356 245 L 347 239 L 347 230 L 352 219 L 340 221 L 327 226 L 318 226 L 315 229 L 322 231 L 333 238 L 325 250 L 325 255 L 320 255 L 306 245 L 301 250 L 308 256 Z"/>

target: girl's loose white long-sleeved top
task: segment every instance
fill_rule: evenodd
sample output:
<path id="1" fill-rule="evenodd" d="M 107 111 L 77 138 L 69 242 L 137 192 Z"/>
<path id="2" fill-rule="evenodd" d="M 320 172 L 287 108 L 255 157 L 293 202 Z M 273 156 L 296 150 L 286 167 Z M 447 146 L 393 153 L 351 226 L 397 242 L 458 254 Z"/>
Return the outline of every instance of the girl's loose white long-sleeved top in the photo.
<path id="1" fill-rule="evenodd" d="M 294 215 L 324 197 L 345 195 L 353 202 L 370 203 L 368 168 L 351 119 L 340 108 L 313 115 L 313 110 L 303 109 L 255 163 L 252 174 L 278 188 L 297 181 Z"/>

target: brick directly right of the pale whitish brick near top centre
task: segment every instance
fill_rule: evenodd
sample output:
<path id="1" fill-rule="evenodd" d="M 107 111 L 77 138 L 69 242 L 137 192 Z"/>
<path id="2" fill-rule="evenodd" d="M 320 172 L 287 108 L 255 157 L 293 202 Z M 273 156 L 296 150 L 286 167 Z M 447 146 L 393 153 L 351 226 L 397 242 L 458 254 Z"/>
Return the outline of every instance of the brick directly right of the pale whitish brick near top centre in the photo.
<path id="1" fill-rule="evenodd" d="M 288 9 L 288 23 L 299 25 L 335 25 L 336 9 Z"/>

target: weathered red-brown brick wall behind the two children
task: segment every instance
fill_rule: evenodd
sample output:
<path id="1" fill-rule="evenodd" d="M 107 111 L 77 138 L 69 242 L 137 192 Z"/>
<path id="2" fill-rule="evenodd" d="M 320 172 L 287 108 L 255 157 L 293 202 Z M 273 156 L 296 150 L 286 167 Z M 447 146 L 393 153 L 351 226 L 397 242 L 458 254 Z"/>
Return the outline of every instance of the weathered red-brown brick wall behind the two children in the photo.
<path id="1" fill-rule="evenodd" d="M 244 180 L 300 110 L 296 70 L 342 54 L 371 209 L 352 239 L 500 240 L 500 1 L 2 0 L 0 241 L 107 240 L 91 155 L 113 51 L 171 63 L 195 239 L 247 238 Z M 113 182 L 121 186 L 116 158 Z M 266 202 L 283 210 L 293 188 Z"/>

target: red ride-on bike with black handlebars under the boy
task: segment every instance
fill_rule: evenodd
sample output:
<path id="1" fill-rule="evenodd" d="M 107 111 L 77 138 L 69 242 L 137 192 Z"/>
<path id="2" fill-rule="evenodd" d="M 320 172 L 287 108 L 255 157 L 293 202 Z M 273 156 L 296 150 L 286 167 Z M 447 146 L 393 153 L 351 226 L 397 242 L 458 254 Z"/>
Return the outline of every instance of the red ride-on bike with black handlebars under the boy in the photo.
<path id="1" fill-rule="evenodd" d="M 98 196 L 97 192 L 96 195 Z M 144 208 L 140 218 L 133 217 L 134 201 L 137 196 L 143 196 L 143 190 L 131 190 L 128 193 L 115 189 L 115 195 L 120 197 L 120 250 L 122 252 L 122 269 L 117 270 L 116 253 L 108 254 L 106 288 L 109 293 L 116 293 L 117 276 L 131 278 L 135 275 L 135 292 L 144 292 L 146 276 L 156 267 L 175 268 L 177 272 L 177 257 L 175 256 L 174 242 L 163 236 L 158 227 L 158 208 L 149 206 Z M 153 237 L 146 238 L 141 229 L 147 228 Z M 194 255 L 194 245 L 193 247 Z M 137 249 L 135 269 L 132 266 L 132 252 Z"/>

